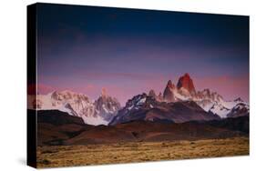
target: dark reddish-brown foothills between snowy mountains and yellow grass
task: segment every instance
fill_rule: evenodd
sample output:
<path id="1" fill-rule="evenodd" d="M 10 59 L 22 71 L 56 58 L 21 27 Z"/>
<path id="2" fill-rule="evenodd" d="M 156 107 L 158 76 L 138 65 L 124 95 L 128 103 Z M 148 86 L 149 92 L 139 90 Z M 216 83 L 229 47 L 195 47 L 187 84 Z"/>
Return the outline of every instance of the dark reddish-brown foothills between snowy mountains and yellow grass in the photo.
<path id="1" fill-rule="evenodd" d="M 78 116 L 59 110 L 37 111 L 37 145 L 90 145 L 126 142 L 162 142 L 249 136 L 249 117 L 164 123 L 135 120 L 113 126 L 91 126 Z M 34 112 L 28 110 L 28 116 Z"/>

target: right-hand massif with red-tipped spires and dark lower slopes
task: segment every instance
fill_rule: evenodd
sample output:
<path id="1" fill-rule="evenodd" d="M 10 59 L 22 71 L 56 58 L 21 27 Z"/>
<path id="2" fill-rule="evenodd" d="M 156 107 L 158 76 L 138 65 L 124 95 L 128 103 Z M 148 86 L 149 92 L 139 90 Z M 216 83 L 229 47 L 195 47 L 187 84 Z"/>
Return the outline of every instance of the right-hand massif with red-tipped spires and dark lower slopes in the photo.
<path id="1" fill-rule="evenodd" d="M 220 120 L 225 117 L 249 116 L 249 105 L 238 98 L 225 101 L 209 89 L 196 91 L 189 74 L 179 78 L 178 84 L 168 81 L 163 95 L 150 90 L 148 95 L 134 96 L 118 111 L 109 125 L 136 120 L 164 123 Z"/>

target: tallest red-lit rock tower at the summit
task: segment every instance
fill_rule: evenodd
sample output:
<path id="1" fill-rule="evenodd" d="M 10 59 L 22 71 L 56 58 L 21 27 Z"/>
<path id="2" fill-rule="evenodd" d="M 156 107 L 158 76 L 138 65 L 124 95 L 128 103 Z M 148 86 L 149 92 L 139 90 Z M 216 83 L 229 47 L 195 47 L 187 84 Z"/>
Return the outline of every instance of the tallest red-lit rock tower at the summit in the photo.
<path id="1" fill-rule="evenodd" d="M 196 93 L 195 86 L 194 86 L 193 81 L 190 78 L 188 73 L 179 77 L 177 88 L 178 89 L 184 88 L 184 89 L 188 90 L 191 95 Z"/>

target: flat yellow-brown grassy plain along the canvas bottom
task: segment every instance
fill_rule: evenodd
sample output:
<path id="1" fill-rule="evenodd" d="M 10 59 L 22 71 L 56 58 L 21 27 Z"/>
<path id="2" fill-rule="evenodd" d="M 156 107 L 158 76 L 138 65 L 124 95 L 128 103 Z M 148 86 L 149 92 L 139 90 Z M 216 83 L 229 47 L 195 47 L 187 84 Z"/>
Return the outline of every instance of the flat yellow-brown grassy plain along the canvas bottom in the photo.
<path id="1" fill-rule="evenodd" d="M 249 155 L 248 137 L 87 146 L 38 146 L 37 167 L 87 166 L 245 155 Z"/>

